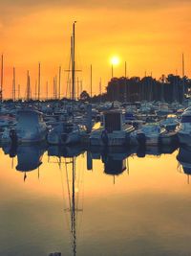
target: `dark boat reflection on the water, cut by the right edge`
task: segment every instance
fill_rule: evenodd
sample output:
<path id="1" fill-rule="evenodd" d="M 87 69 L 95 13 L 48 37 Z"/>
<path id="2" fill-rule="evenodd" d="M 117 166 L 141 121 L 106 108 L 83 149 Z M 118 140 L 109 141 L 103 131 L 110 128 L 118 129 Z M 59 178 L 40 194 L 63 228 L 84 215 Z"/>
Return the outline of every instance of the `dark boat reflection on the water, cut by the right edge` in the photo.
<path id="1" fill-rule="evenodd" d="M 187 175 L 187 182 L 189 184 L 189 178 L 191 175 L 191 147 L 182 145 L 180 146 L 179 153 L 177 155 L 177 160 L 180 163 L 179 172 Z M 182 167 L 182 169 L 180 168 Z"/>

